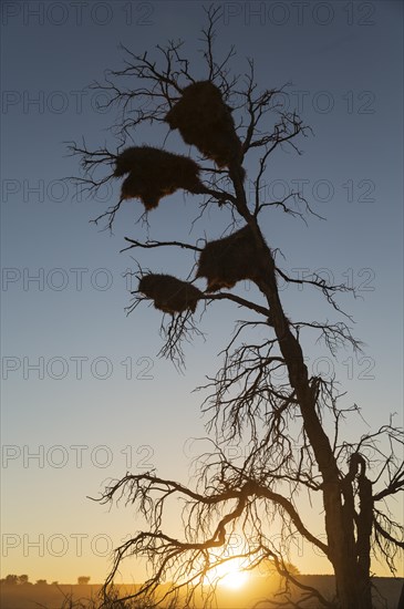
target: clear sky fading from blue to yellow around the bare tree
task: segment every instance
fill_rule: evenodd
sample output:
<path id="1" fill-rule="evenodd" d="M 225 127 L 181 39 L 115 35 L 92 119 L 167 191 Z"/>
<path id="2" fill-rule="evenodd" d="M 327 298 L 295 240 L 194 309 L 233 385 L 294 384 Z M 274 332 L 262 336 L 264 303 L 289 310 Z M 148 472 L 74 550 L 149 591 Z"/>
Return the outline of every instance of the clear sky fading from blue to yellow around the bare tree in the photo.
<path id="1" fill-rule="evenodd" d="M 394 412 L 402 424 L 402 3 L 220 4 L 217 52 L 236 45 L 237 73 L 253 58 L 260 89 L 291 83 L 290 109 L 313 130 L 301 156 L 273 157 L 266 196 L 300 184 L 325 220 L 304 225 L 268 211 L 267 241 L 282 250 L 292 277 L 322 269 L 359 293 L 341 303 L 364 353 L 344 351 L 332 361 L 308 344 L 309 371 L 334 371 L 346 403 L 362 407 L 366 423 L 352 421 L 348 434 L 377 429 Z M 219 368 L 239 312 L 218 302 L 205 313 L 206 341 L 186 347 L 178 374 L 157 357 L 160 313 L 146 306 L 125 312 L 136 288 L 125 272 L 136 264 L 120 250 L 124 237 L 218 238 L 227 218 L 211 211 L 188 234 L 198 202 L 176 194 L 149 214 L 148 227 L 137 221 L 139 202 L 128 202 L 111 235 L 90 220 L 117 200 L 118 184 L 87 199 L 64 179 L 79 173 L 66 142 L 84 136 L 90 147 L 114 146 L 114 111 L 100 111 L 99 94 L 87 87 L 123 65 L 120 43 L 154 53 L 180 38 L 195 78 L 204 79 L 204 24 L 198 1 L 2 3 L 2 577 L 102 581 L 112 548 L 136 520 L 123 505 L 110 510 L 89 496 L 111 477 L 151 466 L 187 482 L 191 438 L 205 435 L 200 394 L 191 391 Z M 160 137 L 153 127 L 134 134 L 137 144 L 163 145 Z M 166 146 L 189 153 L 173 135 Z M 253 161 L 246 163 L 249 196 Z M 184 278 L 194 262 L 176 251 L 137 259 Z M 333 314 L 307 289 L 283 287 L 281 297 L 293 319 Z M 303 572 L 330 572 L 307 546 L 293 558 Z M 374 570 L 385 574 L 376 564 Z M 134 577 L 123 571 L 123 580 Z"/>

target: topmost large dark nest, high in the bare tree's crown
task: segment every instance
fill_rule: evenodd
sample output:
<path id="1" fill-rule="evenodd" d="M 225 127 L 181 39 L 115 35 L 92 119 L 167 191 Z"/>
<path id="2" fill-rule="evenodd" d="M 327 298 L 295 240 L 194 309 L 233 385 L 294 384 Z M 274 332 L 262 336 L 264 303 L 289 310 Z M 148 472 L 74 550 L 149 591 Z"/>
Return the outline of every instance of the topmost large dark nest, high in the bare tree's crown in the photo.
<path id="1" fill-rule="evenodd" d="M 165 121 L 177 128 L 187 144 L 219 167 L 241 157 L 241 142 L 237 137 L 231 109 L 225 104 L 220 90 L 210 81 L 190 84 L 182 99 L 167 113 Z"/>

